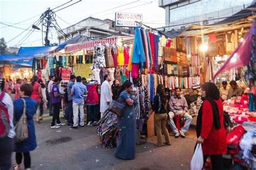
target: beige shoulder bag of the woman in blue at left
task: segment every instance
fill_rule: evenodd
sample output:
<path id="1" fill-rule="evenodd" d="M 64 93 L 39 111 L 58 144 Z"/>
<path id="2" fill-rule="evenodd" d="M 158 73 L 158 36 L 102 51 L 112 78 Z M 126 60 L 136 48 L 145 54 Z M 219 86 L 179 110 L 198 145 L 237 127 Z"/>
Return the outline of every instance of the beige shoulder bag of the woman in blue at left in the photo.
<path id="1" fill-rule="evenodd" d="M 26 119 L 26 101 L 23 98 L 21 99 L 24 103 L 24 108 L 23 108 L 23 114 L 21 118 L 18 120 L 17 124 L 14 127 L 14 130 L 16 133 L 16 136 L 15 136 L 16 143 L 29 138 L 28 120 Z"/>

